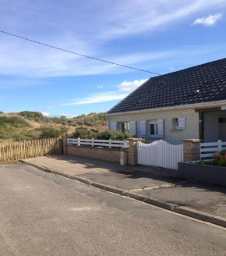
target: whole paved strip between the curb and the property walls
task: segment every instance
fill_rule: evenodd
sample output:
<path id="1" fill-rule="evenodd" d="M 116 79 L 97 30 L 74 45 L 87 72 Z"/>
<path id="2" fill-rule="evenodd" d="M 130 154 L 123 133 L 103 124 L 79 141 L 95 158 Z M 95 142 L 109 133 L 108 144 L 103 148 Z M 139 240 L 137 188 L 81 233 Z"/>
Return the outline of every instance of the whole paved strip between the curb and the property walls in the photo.
<path id="1" fill-rule="evenodd" d="M 71 155 L 26 159 L 71 176 L 79 176 L 122 190 L 130 190 L 157 200 L 189 206 L 210 215 L 226 218 L 226 188 L 178 180 L 176 171 L 150 166 L 119 165 Z"/>

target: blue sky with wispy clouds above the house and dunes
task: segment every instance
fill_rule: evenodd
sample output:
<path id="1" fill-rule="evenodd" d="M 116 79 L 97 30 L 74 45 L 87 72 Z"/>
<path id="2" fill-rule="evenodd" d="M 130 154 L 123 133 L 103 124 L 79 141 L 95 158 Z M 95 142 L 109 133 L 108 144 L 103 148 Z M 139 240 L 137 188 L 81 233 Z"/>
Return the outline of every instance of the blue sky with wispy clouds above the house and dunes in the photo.
<path id="1" fill-rule="evenodd" d="M 0 0 L 0 30 L 156 73 L 226 57 L 226 0 Z M 0 34 L 0 110 L 105 112 L 154 76 Z"/>

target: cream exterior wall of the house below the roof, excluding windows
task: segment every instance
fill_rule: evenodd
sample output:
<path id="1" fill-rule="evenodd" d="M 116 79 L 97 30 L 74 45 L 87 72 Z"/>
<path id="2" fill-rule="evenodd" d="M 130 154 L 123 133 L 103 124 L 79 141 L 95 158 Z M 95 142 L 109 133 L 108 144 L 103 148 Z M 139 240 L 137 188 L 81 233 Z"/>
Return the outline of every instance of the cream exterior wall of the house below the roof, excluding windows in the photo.
<path id="1" fill-rule="evenodd" d="M 185 118 L 186 129 L 180 131 L 172 131 L 173 119 Z M 162 140 L 168 141 L 171 144 L 181 144 L 182 139 L 199 139 L 199 113 L 195 112 L 193 108 L 172 109 L 154 112 L 137 112 L 133 114 L 123 114 L 108 116 L 111 123 L 136 121 L 136 137 L 139 137 L 139 121 L 140 120 L 154 120 L 164 119 L 164 137 Z"/>

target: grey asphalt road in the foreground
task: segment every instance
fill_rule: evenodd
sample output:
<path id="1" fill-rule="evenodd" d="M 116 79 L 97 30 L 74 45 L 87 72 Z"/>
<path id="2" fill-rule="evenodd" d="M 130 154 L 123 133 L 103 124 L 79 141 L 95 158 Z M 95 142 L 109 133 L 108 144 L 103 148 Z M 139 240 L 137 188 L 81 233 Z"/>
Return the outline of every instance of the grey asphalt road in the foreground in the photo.
<path id="1" fill-rule="evenodd" d="M 226 255 L 226 229 L 26 165 L 0 167 L 0 256 Z"/>

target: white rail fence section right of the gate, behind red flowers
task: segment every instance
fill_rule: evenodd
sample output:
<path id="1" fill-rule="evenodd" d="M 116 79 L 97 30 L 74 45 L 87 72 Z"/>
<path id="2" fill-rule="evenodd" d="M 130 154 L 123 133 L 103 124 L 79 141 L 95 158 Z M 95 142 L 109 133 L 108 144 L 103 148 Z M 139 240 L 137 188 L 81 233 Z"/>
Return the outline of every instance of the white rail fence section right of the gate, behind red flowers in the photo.
<path id="1" fill-rule="evenodd" d="M 217 151 L 226 150 L 226 142 L 217 140 L 217 142 L 201 143 L 200 144 L 200 158 L 210 159 L 216 155 Z"/>

